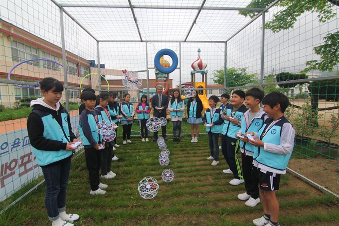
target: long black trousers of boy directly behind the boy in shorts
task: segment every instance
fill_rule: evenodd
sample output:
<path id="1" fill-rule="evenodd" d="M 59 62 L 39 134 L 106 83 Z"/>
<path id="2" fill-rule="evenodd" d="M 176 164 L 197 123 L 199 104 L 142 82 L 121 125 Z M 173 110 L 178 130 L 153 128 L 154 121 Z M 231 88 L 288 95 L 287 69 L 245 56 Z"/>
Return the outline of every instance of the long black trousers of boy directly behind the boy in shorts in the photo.
<path id="1" fill-rule="evenodd" d="M 256 200 L 259 198 L 259 187 L 258 182 L 254 182 L 254 180 L 252 180 L 253 156 L 241 153 L 241 163 L 246 193 Z"/>

